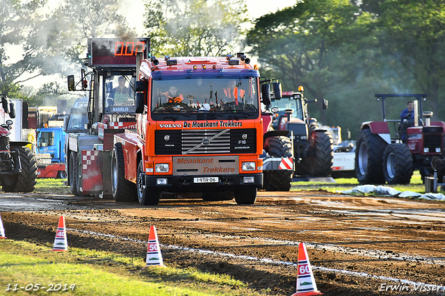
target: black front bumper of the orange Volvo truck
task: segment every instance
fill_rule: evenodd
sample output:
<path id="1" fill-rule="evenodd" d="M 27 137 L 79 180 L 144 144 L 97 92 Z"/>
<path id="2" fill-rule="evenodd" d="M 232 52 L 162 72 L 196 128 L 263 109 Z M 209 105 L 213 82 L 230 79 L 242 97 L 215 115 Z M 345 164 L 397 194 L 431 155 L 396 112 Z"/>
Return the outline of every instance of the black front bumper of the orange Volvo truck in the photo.
<path id="1" fill-rule="evenodd" d="M 218 182 L 195 183 L 195 178 L 206 178 L 206 177 L 209 177 L 209 175 L 193 175 L 193 176 L 145 175 L 145 186 L 147 188 L 158 189 L 168 192 L 234 190 L 236 188 L 243 188 L 245 186 L 255 186 L 258 189 L 263 187 L 262 173 L 211 175 L 211 177 L 217 177 Z M 161 179 L 163 182 L 165 182 L 165 185 L 159 184 L 159 181 Z"/>

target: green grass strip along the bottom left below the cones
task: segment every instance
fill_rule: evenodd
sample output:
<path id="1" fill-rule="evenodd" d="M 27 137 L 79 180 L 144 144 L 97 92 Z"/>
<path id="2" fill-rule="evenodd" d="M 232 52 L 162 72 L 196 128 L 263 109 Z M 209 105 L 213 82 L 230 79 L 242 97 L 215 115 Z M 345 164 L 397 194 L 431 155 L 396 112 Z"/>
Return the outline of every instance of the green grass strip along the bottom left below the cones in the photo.
<path id="1" fill-rule="evenodd" d="M 262 295 L 225 274 L 144 266 L 111 252 L 0 240 L 0 295 Z"/>

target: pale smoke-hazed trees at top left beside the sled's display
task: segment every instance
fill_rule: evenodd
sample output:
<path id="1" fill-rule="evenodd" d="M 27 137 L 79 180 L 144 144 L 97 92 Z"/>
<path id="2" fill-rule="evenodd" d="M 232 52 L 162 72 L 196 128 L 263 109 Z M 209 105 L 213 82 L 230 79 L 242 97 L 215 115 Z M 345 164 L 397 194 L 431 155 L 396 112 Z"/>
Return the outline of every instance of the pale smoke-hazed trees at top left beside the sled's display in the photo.
<path id="1" fill-rule="evenodd" d="M 38 15 L 36 9 L 44 5 L 44 0 L 27 1 L 1 0 L 0 8 L 0 90 L 8 92 L 37 76 L 66 74 L 85 67 L 82 58 L 86 51 L 86 38 L 125 37 L 131 34 L 124 17 L 115 13 L 118 0 L 74 0 L 63 2 L 58 8 Z M 22 59 L 17 63 L 5 65 L 8 60 L 4 46 L 18 44 L 23 50 Z M 80 58 L 79 58 L 80 56 Z M 63 94 L 66 87 L 43 86 L 38 91 L 40 96 L 45 91 L 58 90 Z"/>

